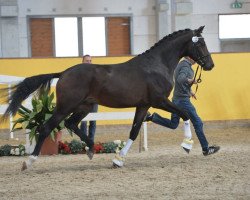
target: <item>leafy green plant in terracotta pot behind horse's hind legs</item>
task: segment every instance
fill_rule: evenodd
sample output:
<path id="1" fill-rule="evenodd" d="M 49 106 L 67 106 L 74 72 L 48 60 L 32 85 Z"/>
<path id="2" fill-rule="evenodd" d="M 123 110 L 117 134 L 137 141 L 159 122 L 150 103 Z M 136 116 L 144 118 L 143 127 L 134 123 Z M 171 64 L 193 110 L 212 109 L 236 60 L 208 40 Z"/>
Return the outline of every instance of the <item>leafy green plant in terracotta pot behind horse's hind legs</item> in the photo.
<path id="1" fill-rule="evenodd" d="M 26 134 L 29 134 L 30 142 L 32 143 L 33 139 L 37 142 L 39 127 L 52 116 L 55 108 L 53 99 L 54 93 L 50 93 L 47 89 L 32 98 L 31 109 L 22 105 L 17 112 L 20 117 L 13 122 L 12 131 L 28 130 Z M 42 155 L 58 154 L 58 142 L 61 140 L 63 128 L 65 128 L 64 121 L 50 133 L 50 137 L 45 139 L 40 152 Z"/>

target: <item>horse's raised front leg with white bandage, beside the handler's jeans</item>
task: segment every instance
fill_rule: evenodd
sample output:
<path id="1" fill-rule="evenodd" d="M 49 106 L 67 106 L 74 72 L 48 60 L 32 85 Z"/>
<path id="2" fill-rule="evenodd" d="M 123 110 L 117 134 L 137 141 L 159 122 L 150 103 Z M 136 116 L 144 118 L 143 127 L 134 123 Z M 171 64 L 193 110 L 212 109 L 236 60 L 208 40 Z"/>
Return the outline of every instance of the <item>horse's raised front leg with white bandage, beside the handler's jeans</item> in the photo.
<path id="1" fill-rule="evenodd" d="M 181 110 L 180 108 L 178 108 L 170 100 L 165 99 L 165 98 L 157 105 L 154 105 L 154 107 L 171 112 L 171 113 L 175 113 L 183 119 L 183 121 L 184 121 L 184 139 L 183 139 L 183 142 L 181 143 L 181 146 L 183 147 L 183 149 L 187 153 L 189 153 L 189 151 L 193 147 L 194 142 L 191 139 L 192 132 L 191 132 L 191 128 L 190 128 L 190 120 L 189 120 L 188 114 L 184 110 Z"/>

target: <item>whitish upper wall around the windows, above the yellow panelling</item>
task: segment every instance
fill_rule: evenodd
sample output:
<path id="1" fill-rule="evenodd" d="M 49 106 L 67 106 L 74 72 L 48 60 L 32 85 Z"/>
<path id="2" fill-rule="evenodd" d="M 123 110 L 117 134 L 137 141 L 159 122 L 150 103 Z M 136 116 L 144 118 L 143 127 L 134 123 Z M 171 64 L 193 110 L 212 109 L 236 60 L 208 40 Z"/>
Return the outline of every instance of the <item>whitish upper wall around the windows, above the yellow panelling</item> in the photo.
<path id="1" fill-rule="evenodd" d="M 203 36 L 209 50 L 220 52 L 218 14 L 250 13 L 250 3 L 243 4 L 242 9 L 231 9 L 232 2 L 233 0 L 0 0 L 0 57 L 29 57 L 27 19 L 30 16 L 131 16 L 132 54 L 142 53 L 158 39 L 175 30 L 195 29 L 205 25 Z"/>

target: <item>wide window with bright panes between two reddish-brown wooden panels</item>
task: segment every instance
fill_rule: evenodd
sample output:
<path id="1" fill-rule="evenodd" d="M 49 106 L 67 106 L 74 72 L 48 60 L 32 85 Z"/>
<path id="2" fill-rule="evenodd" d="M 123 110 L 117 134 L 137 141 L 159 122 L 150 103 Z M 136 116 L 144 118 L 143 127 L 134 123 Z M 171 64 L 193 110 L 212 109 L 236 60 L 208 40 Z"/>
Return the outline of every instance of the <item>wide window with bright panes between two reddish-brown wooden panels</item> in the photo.
<path id="1" fill-rule="evenodd" d="M 32 57 L 130 54 L 129 17 L 30 18 Z"/>

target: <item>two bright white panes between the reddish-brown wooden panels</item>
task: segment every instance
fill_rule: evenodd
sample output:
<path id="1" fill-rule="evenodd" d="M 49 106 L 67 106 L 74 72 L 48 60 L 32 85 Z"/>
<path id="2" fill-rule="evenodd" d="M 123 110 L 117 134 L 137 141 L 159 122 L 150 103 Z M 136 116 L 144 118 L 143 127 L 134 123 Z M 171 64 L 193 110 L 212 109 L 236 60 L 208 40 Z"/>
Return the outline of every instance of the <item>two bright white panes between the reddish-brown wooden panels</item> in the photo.
<path id="1" fill-rule="evenodd" d="M 92 56 L 106 56 L 105 18 L 83 17 L 82 40 L 79 40 L 76 17 L 56 17 L 55 27 L 55 54 L 56 57 L 79 56 L 78 41 L 83 54 Z"/>

